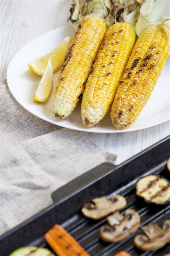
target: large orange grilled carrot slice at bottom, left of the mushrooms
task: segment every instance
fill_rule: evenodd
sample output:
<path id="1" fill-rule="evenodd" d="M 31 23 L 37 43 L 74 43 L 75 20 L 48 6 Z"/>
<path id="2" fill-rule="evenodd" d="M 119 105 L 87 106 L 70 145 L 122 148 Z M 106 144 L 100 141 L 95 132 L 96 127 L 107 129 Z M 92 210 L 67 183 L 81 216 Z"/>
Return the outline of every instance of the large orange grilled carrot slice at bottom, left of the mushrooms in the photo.
<path id="1" fill-rule="evenodd" d="M 90 256 L 90 254 L 58 224 L 53 226 L 53 228 L 44 235 L 44 238 L 57 256 Z"/>

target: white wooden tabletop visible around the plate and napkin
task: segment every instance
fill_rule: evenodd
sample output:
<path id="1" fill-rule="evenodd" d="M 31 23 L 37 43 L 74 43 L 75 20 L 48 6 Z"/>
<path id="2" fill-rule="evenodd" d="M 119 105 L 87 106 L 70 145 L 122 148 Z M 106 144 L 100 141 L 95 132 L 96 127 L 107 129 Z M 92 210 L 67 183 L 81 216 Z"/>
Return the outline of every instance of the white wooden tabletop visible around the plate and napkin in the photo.
<path id="1" fill-rule="evenodd" d="M 6 68 L 10 59 L 24 44 L 46 31 L 67 24 L 71 2 L 71 0 L 0 1 L 0 78 L 6 78 Z M 170 122 L 165 122 L 135 132 L 90 134 L 90 136 L 100 148 L 116 153 L 118 155 L 116 164 L 119 164 L 169 134 Z"/>

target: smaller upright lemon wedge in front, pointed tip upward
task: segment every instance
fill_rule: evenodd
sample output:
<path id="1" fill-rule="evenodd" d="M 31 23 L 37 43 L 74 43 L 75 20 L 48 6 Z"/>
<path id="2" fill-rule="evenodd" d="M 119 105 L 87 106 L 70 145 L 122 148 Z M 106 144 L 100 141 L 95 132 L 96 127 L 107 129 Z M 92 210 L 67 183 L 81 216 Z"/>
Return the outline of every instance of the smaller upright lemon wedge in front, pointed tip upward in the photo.
<path id="1" fill-rule="evenodd" d="M 47 68 L 38 85 L 38 89 L 36 91 L 34 100 L 38 102 L 46 102 L 51 94 L 52 85 L 53 85 L 53 70 L 52 70 L 51 58 L 49 58 Z"/>

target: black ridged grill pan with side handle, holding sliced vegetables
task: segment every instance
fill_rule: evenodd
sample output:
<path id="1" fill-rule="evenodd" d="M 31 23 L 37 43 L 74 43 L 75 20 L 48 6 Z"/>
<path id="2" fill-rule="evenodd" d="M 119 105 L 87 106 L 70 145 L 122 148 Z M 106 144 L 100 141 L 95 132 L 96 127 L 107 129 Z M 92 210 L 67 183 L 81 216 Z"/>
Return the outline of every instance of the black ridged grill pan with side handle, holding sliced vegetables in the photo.
<path id="1" fill-rule="evenodd" d="M 164 220 L 170 219 L 170 205 L 151 206 L 143 202 L 135 195 L 135 183 L 141 176 L 148 174 L 166 176 L 164 170 L 169 156 L 170 136 L 119 166 L 103 163 L 79 176 L 53 192 L 53 205 L 1 236 L 0 256 L 8 256 L 23 246 L 49 248 L 43 235 L 56 223 L 62 225 L 91 256 L 113 256 L 121 250 L 133 256 L 163 256 L 170 252 L 168 244 L 155 252 L 142 252 L 135 248 L 133 239 L 140 230 L 118 244 L 104 243 L 99 239 L 99 228 L 106 223 L 105 219 L 88 220 L 80 211 L 81 206 L 94 197 L 110 197 L 119 193 L 126 197 L 126 208 L 138 211 L 141 225 L 151 220 L 161 225 Z"/>

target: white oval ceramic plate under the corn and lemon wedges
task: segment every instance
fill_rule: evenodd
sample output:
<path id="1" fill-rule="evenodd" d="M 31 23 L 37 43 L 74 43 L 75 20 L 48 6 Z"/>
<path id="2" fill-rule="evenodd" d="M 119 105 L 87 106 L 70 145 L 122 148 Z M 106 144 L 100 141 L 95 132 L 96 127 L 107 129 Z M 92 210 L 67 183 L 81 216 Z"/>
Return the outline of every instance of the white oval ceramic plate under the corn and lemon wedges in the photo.
<path id="1" fill-rule="evenodd" d="M 66 36 L 73 36 L 71 26 L 57 28 L 26 44 L 15 54 L 7 70 L 8 86 L 14 98 L 29 112 L 50 123 L 73 130 L 94 133 L 122 133 L 148 128 L 170 119 L 169 66 L 167 60 L 150 100 L 133 125 L 126 130 L 114 130 L 110 113 L 94 127 L 86 128 L 80 116 L 80 104 L 66 120 L 57 120 L 51 111 L 51 98 L 46 104 L 33 101 L 41 76 L 29 70 L 27 63 L 55 48 Z M 54 75 L 56 84 L 58 72 Z"/>

